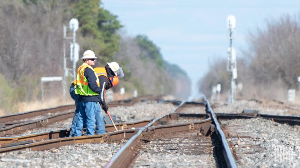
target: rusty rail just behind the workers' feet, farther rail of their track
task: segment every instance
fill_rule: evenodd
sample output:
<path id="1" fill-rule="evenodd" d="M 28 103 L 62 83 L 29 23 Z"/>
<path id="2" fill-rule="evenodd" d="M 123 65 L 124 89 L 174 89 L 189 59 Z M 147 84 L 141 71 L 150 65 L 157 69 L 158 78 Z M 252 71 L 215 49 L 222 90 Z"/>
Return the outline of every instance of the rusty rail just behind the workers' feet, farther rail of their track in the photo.
<path id="1" fill-rule="evenodd" d="M 138 120 L 128 123 L 116 123 L 116 126 L 119 130 L 122 130 L 123 128 L 131 129 L 139 127 L 143 127 L 147 124 L 149 124 L 152 120 Z M 122 128 L 122 129 L 121 129 Z M 107 132 L 113 132 L 115 131 L 115 128 L 113 127 L 113 124 L 107 124 L 105 125 L 105 130 Z M 70 129 L 61 129 L 61 130 L 53 130 L 53 131 L 45 131 L 42 133 L 32 133 L 28 135 L 21 135 L 21 136 L 14 136 L 14 137 L 1 137 L 0 138 L 0 145 L 5 143 L 12 143 L 12 142 L 18 142 L 18 141 L 25 141 L 29 139 L 33 139 L 35 141 L 42 141 L 42 140 L 50 140 L 50 139 L 57 139 L 57 138 L 64 138 L 68 136 Z"/>

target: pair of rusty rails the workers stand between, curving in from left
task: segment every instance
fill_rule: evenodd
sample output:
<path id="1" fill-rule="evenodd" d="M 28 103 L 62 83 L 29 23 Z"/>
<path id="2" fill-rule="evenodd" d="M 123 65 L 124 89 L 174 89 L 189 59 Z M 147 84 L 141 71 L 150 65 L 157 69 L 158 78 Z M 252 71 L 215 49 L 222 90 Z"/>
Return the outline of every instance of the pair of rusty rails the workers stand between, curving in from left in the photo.
<path id="1" fill-rule="evenodd" d="M 29 149 L 31 151 L 34 150 L 45 150 L 45 149 L 50 149 L 53 147 L 59 147 L 59 146 L 64 146 L 64 145 L 69 145 L 69 144 L 77 144 L 77 143 L 99 143 L 99 142 L 107 142 L 110 140 L 121 140 L 121 139 L 126 139 L 126 138 L 131 138 L 135 133 L 137 132 L 139 126 L 143 126 L 147 123 L 151 125 L 161 125 L 162 123 L 165 123 L 165 121 L 170 120 L 173 118 L 171 114 L 165 115 L 161 117 L 159 120 L 156 120 L 155 122 L 151 121 L 149 123 L 149 120 L 142 120 L 142 121 L 136 121 L 133 123 L 119 123 L 118 128 L 127 128 L 124 130 L 120 131 L 115 131 L 112 133 L 105 133 L 101 135 L 94 135 L 94 136 L 84 136 L 84 137 L 90 137 L 90 138 L 82 138 L 82 137 L 67 137 L 67 138 L 60 138 L 66 136 L 66 131 L 67 130 L 57 130 L 57 131 L 48 131 L 48 132 L 43 132 L 43 133 L 37 133 L 37 134 L 30 134 L 26 136 L 17 136 L 17 137 L 3 137 L 0 140 L 4 142 L 11 142 L 13 141 L 18 141 L 22 142 L 23 140 L 34 140 L 33 138 L 36 138 L 37 140 L 45 140 L 41 142 L 34 142 L 31 144 L 26 144 L 26 145 L 19 145 L 19 146 L 13 146 L 13 147 L 6 147 L 0 149 L 0 152 L 8 152 L 8 151 L 14 151 L 14 150 L 25 150 Z M 148 125 L 149 125 L 148 124 Z M 125 126 L 124 126 L 125 125 Z M 187 124 L 190 125 L 190 124 Z M 135 127 L 136 129 L 131 129 L 132 127 Z M 112 129 L 112 125 L 108 125 L 106 129 Z M 129 129 L 128 129 L 129 128 Z M 53 139 L 57 138 L 57 139 Z M 49 139 L 49 140 L 47 140 Z M 0 142 L 1 142 L 0 141 Z M 7 144 L 7 143 L 5 143 Z"/>

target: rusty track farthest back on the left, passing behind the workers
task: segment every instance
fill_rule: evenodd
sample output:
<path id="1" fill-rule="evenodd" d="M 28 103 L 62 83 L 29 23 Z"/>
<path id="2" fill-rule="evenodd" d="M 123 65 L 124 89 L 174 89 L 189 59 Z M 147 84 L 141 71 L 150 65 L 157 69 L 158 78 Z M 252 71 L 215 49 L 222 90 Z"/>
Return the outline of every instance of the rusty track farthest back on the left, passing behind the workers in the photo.
<path id="1" fill-rule="evenodd" d="M 158 100 L 161 96 L 145 95 L 128 100 L 118 100 L 109 102 L 109 107 L 131 106 L 140 101 Z M 0 137 L 12 136 L 20 134 L 25 130 L 45 127 L 65 119 L 72 118 L 75 112 L 75 105 L 65 105 L 50 109 L 30 111 L 26 113 L 18 113 L 5 115 L 0 117 Z M 35 119 L 30 119 L 34 117 Z"/>

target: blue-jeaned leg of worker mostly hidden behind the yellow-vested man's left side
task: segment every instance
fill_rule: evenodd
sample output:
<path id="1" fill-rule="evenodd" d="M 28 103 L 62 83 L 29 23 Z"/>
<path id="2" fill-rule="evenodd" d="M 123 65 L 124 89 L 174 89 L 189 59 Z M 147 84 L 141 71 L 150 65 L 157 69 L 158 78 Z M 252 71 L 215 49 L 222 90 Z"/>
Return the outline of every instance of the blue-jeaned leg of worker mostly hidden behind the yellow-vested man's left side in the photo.
<path id="1" fill-rule="evenodd" d="M 75 94 L 74 87 L 70 87 L 70 96 L 75 101 L 76 110 L 75 110 L 74 117 L 73 117 L 73 120 L 72 120 L 72 125 L 71 125 L 71 128 L 70 128 L 69 137 L 74 137 L 76 123 L 77 123 L 77 119 L 79 117 L 79 100 L 78 100 L 78 95 Z M 83 123 L 83 127 L 86 127 L 86 123 Z"/>

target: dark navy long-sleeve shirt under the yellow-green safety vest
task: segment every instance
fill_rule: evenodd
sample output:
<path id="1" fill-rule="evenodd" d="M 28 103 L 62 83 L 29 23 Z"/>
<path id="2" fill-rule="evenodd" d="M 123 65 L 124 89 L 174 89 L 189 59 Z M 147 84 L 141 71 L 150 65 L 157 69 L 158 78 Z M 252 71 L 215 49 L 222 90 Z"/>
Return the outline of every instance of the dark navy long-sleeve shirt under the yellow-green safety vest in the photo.
<path id="1" fill-rule="evenodd" d="M 84 70 L 84 76 L 88 80 L 88 87 L 93 91 L 98 94 L 101 94 L 101 88 L 97 85 L 97 77 L 95 76 L 95 73 L 93 72 L 92 69 L 90 68 L 85 68 Z M 100 83 L 101 84 L 101 83 Z M 79 101 L 100 101 L 99 96 L 83 96 L 79 95 Z"/>

